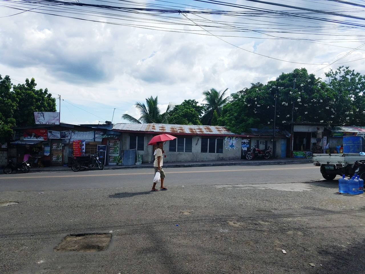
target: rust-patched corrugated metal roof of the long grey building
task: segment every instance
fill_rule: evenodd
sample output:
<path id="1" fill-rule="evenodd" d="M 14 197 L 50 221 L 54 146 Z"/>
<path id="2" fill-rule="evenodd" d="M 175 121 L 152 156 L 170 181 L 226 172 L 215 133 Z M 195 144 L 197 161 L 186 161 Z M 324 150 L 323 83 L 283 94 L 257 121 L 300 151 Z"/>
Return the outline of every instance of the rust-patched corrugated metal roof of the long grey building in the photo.
<path id="1" fill-rule="evenodd" d="M 126 132 L 173 133 L 177 135 L 234 135 L 224 126 L 196 126 L 196 125 L 169 125 L 169 124 L 132 124 L 117 123 L 113 130 Z"/>

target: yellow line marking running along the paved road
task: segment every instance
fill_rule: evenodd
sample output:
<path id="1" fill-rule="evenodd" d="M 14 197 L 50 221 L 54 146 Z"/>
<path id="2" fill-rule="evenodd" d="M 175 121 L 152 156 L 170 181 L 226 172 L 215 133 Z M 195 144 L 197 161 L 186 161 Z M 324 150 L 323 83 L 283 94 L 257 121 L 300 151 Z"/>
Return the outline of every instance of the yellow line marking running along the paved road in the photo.
<path id="1" fill-rule="evenodd" d="M 292 167 L 292 168 L 260 168 L 260 169 L 246 169 L 246 170 L 197 170 L 197 171 L 172 171 L 168 174 L 175 173 L 201 173 L 201 172 L 232 172 L 232 171 L 271 171 L 271 170 L 302 170 L 313 169 L 318 167 Z M 58 176 L 19 176 L 19 177 L 1 177 L 0 179 L 19 179 L 19 178 L 67 178 L 67 177 L 93 177 L 93 176 L 123 176 L 123 175 L 147 175 L 153 172 L 139 172 L 139 173 L 112 173 L 112 174 L 82 174 L 82 175 L 58 175 Z"/>

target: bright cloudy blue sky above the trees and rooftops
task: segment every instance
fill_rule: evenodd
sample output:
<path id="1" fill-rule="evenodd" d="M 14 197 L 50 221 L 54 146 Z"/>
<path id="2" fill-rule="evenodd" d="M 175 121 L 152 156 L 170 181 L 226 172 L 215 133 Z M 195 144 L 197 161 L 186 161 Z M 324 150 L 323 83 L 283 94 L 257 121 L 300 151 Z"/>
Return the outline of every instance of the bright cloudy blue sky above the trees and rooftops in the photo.
<path id="1" fill-rule="evenodd" d="M 361 47 L 365 20 L 359 18 L 310 11 L 283 16 L 278 12 L 298 10 L 244 0 L 226 1 L 235 7 L 193 0 L 129 4 L 76 0 L 110 5 L 112 11 L 100 6 L 52 6 L 45 1 L 44 7 L 23 12 L 35 7 L 24 2 L 30 1 L 0 0 L 0 75 L 9 75 L 13 84 L 34 77 L 37 88 L 48 88 L 54 97 L 61 95 L 61 122 L 111 121 L 114 109 L 113 122 L 126 122 L 121 116 L 128 113 L 139 118 L 134 103 L 150 96 L 158 96 L 162 110 L 169 102 L 180 104 L 185 99 L 202 103 L 204 90 L 228 88 L 233 93 L 295 68 L 307 68 L 322 79 L 325 72 L 340 65 L 365 74 L 365 59 L 358 60 L 365 58 L 365 46 Z M 365 14 L 364 7 L 336 1 L 271 3 L 350 17 Z M 162 4 L 165 10 L 181 13 L 149 10 L 136 14 L 120 9 L 161 9 Z M 261 12 L 252 11 L 257 8 Z M 268 17 L 262 9 L 272 15 Z M 302 18 L 305 14 L 336 21 Z M 122 20 L 126 16 L 132 21 Z M 345 64 L 327 66 L 341 57 L 337 63 Z"/>

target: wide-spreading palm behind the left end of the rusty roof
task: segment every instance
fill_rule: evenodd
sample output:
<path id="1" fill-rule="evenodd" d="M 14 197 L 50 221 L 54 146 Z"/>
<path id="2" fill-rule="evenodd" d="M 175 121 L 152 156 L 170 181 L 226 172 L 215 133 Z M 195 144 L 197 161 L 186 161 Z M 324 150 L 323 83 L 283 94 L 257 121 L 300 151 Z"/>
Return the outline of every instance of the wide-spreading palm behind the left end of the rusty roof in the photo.
<path id="1" fill-rule="evenodd" d="M 131 123 L 161 123 L 161 124 L 180 124 L 186 125 L 187 121 L 185 119 L 172 119 L 170 117 L 169 112 L 173 109 L 173 104 L 169 103 L 167 109 L 164 113 L 161 113 L 160 108 L 158 107 L 158 98 L 157 96 L 153 98 L 146 98 L 146 104 L 136 102 L 134 105 L 139 110 L 141 117 L 136 119 L 129 114 L 123 114 L 122 118 L 126 119 Z"/>

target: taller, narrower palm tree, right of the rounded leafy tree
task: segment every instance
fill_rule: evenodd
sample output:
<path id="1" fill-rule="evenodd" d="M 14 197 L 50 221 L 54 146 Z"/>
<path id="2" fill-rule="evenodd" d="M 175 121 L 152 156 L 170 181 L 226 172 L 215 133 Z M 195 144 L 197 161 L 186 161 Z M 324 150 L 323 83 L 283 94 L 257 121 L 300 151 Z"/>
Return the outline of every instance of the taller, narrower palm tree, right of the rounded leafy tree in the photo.
<path id="1" fill-rule="evenodd" d="M 224 97 L 224 94 L 227 90 L 228 88 L 226 88 L 224 91 L 217 91 L 215 88 L 211 88 L 210 90 L 203 91 L 203 95 L 205 96 L 204 101 L 207 102 L 206 104 L 203 104 L 205 107 L 205 113 L 201 117 L 201 123 L 203 125 L 212 124 L 212 118 L 215 112 L 218 118 L 220 117 L 220 111 L 222 110 L 222 107 L 229 100 L 229 97 Z"/>

